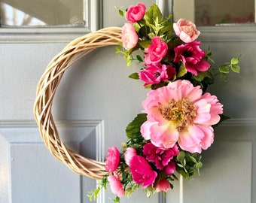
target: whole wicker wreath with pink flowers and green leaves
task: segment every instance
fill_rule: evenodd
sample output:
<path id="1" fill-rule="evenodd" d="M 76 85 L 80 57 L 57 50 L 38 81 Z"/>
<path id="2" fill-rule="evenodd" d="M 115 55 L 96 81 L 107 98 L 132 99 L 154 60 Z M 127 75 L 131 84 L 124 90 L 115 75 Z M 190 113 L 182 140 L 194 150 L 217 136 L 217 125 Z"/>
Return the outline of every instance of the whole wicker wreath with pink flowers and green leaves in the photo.
<path id="1" fill-rule="evenodd" d="M 227 119 L 223 105 L 208 87 L 216 75 L 227 80 L 230 70 L 240 70 L 239 57 L 212 67 L 212 53 L 200 48 L 200 31 L 189 20 L 173 23 L 171 15 L 163 19 L 157 5 L 146 11 L 143 3 L 118 12 L 128 23 L 69 43 L 49 63 L 36 91 L 35 120 L 50 153 L 75 173 L 100 180 L 88 194 L 90 200 L 108 183 L 116 195 L 114 202 L 119 202 L 140 186 L 148 197 L 167 192 L 178 180 L 177 174 L 191 179 L 203 165 L 201 152 L 213 143 L 215 127 Z M 66 147 L 51 108 L 65 71 L 93 50 L 111 45 L 117 46 L 116 53 L 126 59 L 127 66 L 139 62 L 141 69 L 129 77 L 142 80 L 149 90 L 142 114 L 126 127 L 122 152 L 110 147 L 105 162 L 99 162 Z"/>

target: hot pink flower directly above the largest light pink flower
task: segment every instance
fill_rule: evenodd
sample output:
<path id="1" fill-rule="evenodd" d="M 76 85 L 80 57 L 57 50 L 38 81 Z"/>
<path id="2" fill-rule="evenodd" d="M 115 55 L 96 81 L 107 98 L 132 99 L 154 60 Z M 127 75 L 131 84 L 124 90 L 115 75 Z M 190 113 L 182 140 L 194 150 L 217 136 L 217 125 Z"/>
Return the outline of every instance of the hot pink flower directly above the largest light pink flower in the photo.
<path id="1" fill-rule="evenodd" d="M 175 75 L 175 68 L 172 65 L 148 65 L 143 71 L 139 72 L 139 78 L 144 81 L 144 86 L 157 84 L 169 80 Z"/>

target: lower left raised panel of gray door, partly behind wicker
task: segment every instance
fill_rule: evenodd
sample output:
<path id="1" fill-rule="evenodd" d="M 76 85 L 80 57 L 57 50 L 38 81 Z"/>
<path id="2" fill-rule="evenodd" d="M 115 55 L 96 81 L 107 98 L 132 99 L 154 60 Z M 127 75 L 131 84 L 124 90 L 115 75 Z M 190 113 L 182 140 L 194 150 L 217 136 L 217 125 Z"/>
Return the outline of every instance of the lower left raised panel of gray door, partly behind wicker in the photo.
<path id="1" fill-rule="evenodd" d="M 72 150 L 102 159 L 101 121 L 61 122 L 57 127 Z M 96 180 L 73 173 L 53 158 L 35 123 L 2 123 L 0 141 L 1 177 L 5 177 L 0 202 L 88 202 L 85 191 L 94 189 Z"/>

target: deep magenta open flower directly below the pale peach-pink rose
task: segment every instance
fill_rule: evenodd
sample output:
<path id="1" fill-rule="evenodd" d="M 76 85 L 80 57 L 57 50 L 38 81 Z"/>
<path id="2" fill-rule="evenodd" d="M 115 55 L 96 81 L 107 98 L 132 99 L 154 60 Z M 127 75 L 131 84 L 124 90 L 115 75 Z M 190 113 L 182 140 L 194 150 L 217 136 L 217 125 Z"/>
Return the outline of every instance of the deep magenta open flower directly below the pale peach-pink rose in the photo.
<path id="1" fill-rule="evenodd" d="M 195 75 L 197 75 L 197 71 L 208 71 L 211 65 L 203 60 L 206 53 L 200 49 L 200 44 L 200 41 L 194 41 L 175 47 L 174 62 L 181 61 L 187 71 Z"/>

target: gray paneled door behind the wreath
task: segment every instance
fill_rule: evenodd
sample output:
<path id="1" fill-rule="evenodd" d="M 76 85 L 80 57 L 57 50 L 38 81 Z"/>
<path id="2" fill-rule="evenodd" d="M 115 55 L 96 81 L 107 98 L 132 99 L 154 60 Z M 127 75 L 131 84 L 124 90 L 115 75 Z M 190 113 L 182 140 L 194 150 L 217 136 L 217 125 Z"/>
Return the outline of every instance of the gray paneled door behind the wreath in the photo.
<path id="1" fill-rule="evenodd" d="M 90 2 L 90 1 L 89 1 Z M 103 26 L 122 26 L 114 6 L 137 1 L 102 1 Z M 151 5 L 154 1 L 141 1 Z M 0 28 L 1 29 L 1 28 Z M 40 35 L 1 32 L 0 41 L 0 202 L 89 202 L 95 180 L 74 174 L 44 147 L 33 117 L 35 89 L 47 63 L 80 33 L 53 31 Z M 244 32 L 246 31 L 246 32 Z M 139 190 L 121 202 L 255 202 L 256 66 L 254 27 L 203 29 L 201 41 L 211 47 L 216 63 L 241 57 L 241 74 L 212 89 L 231 120 L 215 133 L 215 143 L 203 152 L 203 168 L 192 182 L 180 180 L 166 198 L 146 198 Z M 227 50 L 229 50 L 227 52 Z M 127 76 L 114 47 L 86 56 L 66 71 L 57 90 L 53 117 L 62 139 L 88 157 L 103 159 L 113 145 L 121 149 L 124 129 L 141 110 L 148 92 Z M 98 202 L 111 202 L 111 192 Z"/>

